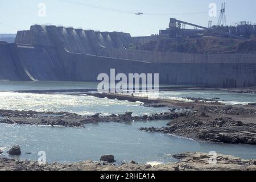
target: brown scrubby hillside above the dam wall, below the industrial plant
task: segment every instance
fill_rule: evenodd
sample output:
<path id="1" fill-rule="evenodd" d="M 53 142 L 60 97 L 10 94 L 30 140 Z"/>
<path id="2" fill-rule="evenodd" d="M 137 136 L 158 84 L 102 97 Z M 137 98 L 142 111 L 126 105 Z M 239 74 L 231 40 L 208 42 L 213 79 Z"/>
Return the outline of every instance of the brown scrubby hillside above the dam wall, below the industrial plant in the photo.
<path id="1" fill-rule="evenodd" d="M 244 41 L 232 38 L 176 38 L 152 40 L 137 44 L 135 49 L 187 53 L 256 53 L 256 39 Z"/>

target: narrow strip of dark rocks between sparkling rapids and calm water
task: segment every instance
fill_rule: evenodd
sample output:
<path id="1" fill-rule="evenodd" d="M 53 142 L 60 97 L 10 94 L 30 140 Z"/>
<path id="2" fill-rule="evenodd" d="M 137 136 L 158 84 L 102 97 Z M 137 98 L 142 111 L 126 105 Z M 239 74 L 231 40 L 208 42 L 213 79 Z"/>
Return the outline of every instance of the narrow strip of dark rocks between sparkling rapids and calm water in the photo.
<path id="1" fill-rule="evenodd" d="M 170 109 L 166 113 L 136 116 L 127 111 L 125 114 L 112 115 L 77 115 L 65 112 L 36 112 L 36 111 L 13 111 L 0 110 L 0 123 L 18 125 L 48 125 L 65 127 L 84 127 L 87 123 L 98 122 L 131 122 L 131 121 L 153 121 L 166 120 L 187 115 L 189 110 Z"/>

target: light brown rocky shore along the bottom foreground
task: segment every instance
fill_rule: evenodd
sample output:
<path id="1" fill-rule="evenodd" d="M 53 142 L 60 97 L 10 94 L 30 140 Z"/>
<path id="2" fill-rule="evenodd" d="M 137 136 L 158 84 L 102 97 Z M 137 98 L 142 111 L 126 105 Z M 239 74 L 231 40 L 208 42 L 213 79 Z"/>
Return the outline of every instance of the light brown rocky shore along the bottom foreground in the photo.
<path id="1" fill-rule="evenodd" d="M 216 158 L 204 153 L 184 153 L 173 155 L 179 160 L 176 163 L 160 164 L 137 164 L 134 161 L 115 166 L 112 163 L 92 162 L 91 160 L 73 164 L 46 164 L 28 160 L 19 161 L 14 159 L 0 158 L 0 171 L 255 171 L 256 160 L 243 160 L 230 155 L 217 154 Z M 215 160 L 216 159 L 216 160 Z M 210 163 L 209 163 L 210 160 Z M 216 163 L 212 163 L 216 161 Z"/>

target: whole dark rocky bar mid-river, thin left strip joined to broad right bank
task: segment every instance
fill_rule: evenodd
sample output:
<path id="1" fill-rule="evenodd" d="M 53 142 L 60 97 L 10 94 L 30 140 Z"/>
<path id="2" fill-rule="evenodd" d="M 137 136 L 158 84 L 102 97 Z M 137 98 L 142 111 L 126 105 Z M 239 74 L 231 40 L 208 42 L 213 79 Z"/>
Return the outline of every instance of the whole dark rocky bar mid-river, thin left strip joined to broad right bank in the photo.
<path id="1" fill-rule="evenodd" d="M 165 113 L 142 116 L 133 115 L 129 111 L 118 115 L 77 115 L 66 112 L 0 110 L 0 123 L 84 127 L 87 123 L 98 122 L 170 120 L 167 127 L 142 127 L 141 130 L 211 142 L 256 144 L 256 107 L 226 106 L 214 104 L 214 102 L 148 100 L 117 94 L 99 94 L 98 97 L 105 96 L 119 100 L 127 100 L 127 98 L 133 101 L 145 100 L 144 106 L 167 106 L 179 109 L 169 109 Z M 199 99 L 201 100 L 201 98 L 197 100 Z M 211 101 L 214 100 L 217 98 Z"/>

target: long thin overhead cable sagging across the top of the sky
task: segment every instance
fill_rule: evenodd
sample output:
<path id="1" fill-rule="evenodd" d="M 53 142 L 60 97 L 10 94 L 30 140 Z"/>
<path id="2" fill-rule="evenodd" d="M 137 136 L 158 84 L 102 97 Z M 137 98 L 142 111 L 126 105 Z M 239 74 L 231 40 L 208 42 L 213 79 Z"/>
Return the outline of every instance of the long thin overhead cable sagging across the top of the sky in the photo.
<path id="1" fill-rule="evenodd" d="M 172 15 L 196 15 L 196 14 L 208 14 L 209 13 L 209 11 L 195 12 L 195 13 L 176 13 L 176 14 L 171 14 L 171 13 L 137 13 L 135 11 L 113 9 L 113 8 L 110 8 L 110 7 L 97 6 L 97 5 L 92 5 L 92 4 L 89 4 L 89 3 L 73 1 L 73 0 L 59 0 L 59 1 L 65 2 L 65 3 L 70 3 L 70 4 L 73 4 L 73 5 L 90 7 L 90 8 L 94 8 L 94 9 L 113 11 L 113 12 L 125 13 L 125 14 L 135 14 L 135 15 L 172 16 Z"/>

